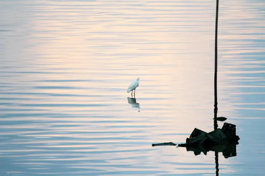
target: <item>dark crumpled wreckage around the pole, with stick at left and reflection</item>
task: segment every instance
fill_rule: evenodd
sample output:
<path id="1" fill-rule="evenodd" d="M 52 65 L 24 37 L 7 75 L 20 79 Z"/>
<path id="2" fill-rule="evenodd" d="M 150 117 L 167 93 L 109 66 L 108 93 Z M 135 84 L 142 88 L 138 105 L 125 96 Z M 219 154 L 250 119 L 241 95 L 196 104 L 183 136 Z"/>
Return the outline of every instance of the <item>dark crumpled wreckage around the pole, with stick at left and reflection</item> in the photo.
<path id="1" fill-rule="evenodd" d="M 195 155 L 201 152 L 207 155 L 208 151 L 222 152 L 224 158 L 236 156 L 236 145 L 240 138 L 236 135 L 236 125 L 224 123 L 222 129 L 216 129 L 209 133 L 195 128 L 185 144 L 178 147 L 186 147 L 187 151 L 193 151 Z M 176 145 L 173 142 L 152 144 L 152 146 Z"/>

